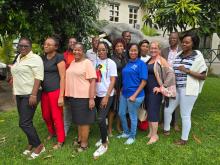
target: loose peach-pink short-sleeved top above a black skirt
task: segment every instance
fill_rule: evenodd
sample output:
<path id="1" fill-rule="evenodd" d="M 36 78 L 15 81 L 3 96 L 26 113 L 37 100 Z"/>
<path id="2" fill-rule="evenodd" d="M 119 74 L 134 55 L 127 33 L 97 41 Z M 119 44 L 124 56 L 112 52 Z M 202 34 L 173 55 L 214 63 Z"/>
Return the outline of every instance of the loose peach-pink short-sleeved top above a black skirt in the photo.
<path id="1" fill-rule="evenodd" d="M 89 79 L 92 78 L 96 78 L 96 72 L 90 60 L 73 61 L 66 70 L 65 96 L 89 98 Z"/>

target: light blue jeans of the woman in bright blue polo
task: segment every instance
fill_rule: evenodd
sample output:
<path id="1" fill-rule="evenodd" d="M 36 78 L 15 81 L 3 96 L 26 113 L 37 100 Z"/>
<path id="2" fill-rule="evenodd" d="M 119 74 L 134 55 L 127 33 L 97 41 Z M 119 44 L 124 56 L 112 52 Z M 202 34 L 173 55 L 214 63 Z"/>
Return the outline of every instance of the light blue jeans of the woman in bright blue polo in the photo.
<path id="1" fill-rule="evenodd" d="M 143 97 L 136 98 L 135 102 L 129 101 L 128 98 L 125 98 L 123 95 L 120 96 L 119 103 L 119 116 L 122 123 L 122 128 L 124 133 L 129 135 L 129 138 L 135 138 L 136 130 L 137 130 L 137 111 L 144 100 Z M 131 128 L 129 130 L 126 113 L 129 113 L 129 117 L 131 120 Z"/>

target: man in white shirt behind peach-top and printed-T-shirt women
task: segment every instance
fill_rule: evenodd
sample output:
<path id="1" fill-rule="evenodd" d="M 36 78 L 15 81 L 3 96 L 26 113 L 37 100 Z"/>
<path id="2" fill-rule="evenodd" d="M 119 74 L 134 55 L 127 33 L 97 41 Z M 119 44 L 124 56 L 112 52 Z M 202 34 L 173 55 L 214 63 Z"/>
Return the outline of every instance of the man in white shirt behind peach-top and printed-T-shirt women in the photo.
<path id="1" fill-rule="evenodd" d="M 97 60 L 99 59 L 97 55 L 97 48 L 99 43 L 99 37 L 95 36 L 92 38 L 92 49 L 87 50 L 86 58 L 92 61 L 94 68 L 96 67 Z"/>

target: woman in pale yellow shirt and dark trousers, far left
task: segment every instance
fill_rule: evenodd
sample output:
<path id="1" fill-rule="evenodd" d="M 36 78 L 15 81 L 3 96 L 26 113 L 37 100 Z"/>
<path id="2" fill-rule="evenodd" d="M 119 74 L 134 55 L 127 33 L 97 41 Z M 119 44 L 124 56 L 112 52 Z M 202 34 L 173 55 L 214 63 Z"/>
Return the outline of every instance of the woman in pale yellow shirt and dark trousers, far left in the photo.
<path id="1" fill-rule="evenodd" d="M 36 129 L 33 117 L 40 100 L 40 83 L 44 77 L 44 66 L 40 56 L 31 51 L 32 43 L 28 38 L 21 38 L 18 43 L 20 55 L 11 66 L 13 93 L 16 96 L 19 114 L 19 127 L 28 139 L 28 147 L 23 152 L 36 158 L 45 151 Z M 32 153 L 31 153 L 32 152 Z"/>

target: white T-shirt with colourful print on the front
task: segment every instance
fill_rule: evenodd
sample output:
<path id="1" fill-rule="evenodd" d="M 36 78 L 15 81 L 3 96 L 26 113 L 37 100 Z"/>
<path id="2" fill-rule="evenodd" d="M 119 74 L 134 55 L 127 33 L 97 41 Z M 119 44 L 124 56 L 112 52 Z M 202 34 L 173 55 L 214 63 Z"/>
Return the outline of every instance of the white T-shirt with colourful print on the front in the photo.
<path id="1" fill-rule="evenodd" d="M 98 97 L 104 97 L 107 94 L 110 78 L 117 77 L 117 66 L 116 63 L 107 58 L 105 60 L 98 59 L 96 67 L 96 95 Z M 114 90 L 112 90 L 110 96 L 114 95 Z"/>

